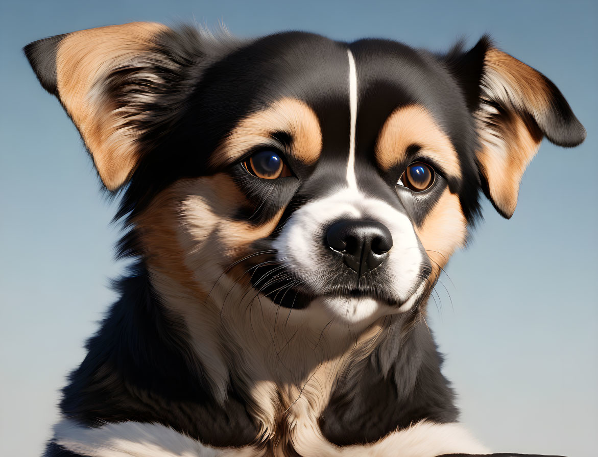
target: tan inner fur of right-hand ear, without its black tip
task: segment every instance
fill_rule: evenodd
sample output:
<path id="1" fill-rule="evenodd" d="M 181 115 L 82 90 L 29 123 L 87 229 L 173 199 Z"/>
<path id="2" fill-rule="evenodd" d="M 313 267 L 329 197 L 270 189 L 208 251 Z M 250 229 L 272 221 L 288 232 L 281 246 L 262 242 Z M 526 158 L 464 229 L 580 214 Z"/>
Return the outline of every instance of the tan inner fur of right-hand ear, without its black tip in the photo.
<path id="1" fill-rule="evenodd" d="M 487 50 L 475 112 L 477 159 L 489 197 L 506 218 L 517 206 L 521 178 L 544 136 L 538 122 L 550 115 L 552 99 L 541 73 L 496 48 Z"/>

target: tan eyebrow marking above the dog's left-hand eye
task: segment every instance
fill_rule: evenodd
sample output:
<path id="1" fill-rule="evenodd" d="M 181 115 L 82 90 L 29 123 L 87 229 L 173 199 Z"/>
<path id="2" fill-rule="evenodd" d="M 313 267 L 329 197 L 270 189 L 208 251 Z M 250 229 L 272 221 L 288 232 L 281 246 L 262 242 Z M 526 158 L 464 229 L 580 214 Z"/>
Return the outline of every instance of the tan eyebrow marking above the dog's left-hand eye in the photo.
<path id="1" fill-rule="evenodd" d="M 271 135 L 285 132 L 291 136 L 290 153 L 313 164 L 322 151 L 322 131 L 313 109 L 301 100 L 282 98 L 269 108 L 243 118 L 212 154 L 214 166 L 242 159 L 251 148 L 271 144 Z"/>

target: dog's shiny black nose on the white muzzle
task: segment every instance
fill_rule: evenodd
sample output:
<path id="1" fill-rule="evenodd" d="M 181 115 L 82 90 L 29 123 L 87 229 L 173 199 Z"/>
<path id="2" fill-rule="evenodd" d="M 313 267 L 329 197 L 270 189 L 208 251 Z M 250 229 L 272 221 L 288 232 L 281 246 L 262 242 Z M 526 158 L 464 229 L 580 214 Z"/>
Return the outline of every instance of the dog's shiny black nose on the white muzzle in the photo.
<path id="1" fill-rule="evenodd" d="M 374 221 L 337 222 L 328 229 L 326 241 L 359 276 L 379 266 L 392 248 L 390 230 Z"/>

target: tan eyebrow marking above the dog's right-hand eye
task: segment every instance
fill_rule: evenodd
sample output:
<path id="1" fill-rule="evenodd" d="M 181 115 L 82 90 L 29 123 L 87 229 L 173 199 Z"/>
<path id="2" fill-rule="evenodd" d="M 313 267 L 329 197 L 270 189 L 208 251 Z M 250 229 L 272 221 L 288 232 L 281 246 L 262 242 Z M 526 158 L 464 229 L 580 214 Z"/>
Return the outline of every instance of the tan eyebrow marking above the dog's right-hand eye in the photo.
<path id="1" fill-rule="evenodd" d="M 459 159 L 449 137 L 420 105 L 403 106 L 390 114 L 378 137 L 376 160 L 383 169 L 389 169 L 405 160 L 407 148 L 414 144 L 446 173 L 461 177 Z"/>

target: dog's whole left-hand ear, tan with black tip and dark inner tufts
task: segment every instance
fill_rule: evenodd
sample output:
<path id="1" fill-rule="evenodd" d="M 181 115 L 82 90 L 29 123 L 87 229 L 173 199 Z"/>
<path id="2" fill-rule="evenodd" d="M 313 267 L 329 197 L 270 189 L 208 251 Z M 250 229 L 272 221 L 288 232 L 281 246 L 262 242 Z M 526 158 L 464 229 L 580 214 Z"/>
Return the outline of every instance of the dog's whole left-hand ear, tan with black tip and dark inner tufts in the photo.
<path id="1" fill-rule="evenodd" d="M 77 126 L 106 188 L 117 190 L 147 152 L 142 134 L 159 136 L 174 121 L 175 110 L 161 105 L 190 92 L 180 87 L 181 73 L 197 48 L 194 29 L 138 22 L 53 36 L 24 50 Z"/>

